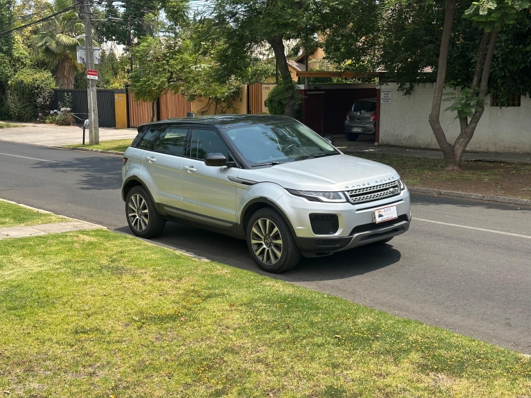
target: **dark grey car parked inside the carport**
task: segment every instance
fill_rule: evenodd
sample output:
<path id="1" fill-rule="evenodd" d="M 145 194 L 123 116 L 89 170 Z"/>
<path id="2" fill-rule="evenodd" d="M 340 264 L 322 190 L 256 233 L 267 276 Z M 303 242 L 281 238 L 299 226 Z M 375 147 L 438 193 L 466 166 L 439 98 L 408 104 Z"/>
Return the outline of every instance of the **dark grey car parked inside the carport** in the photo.
<path id="1" fill-rule="evenodd" d="M 376 131 L 376 98 L 356 100 L 347 112 L 343 131 L 349 141 L 356 141 L 360 134 L 374 134 Z"/>

